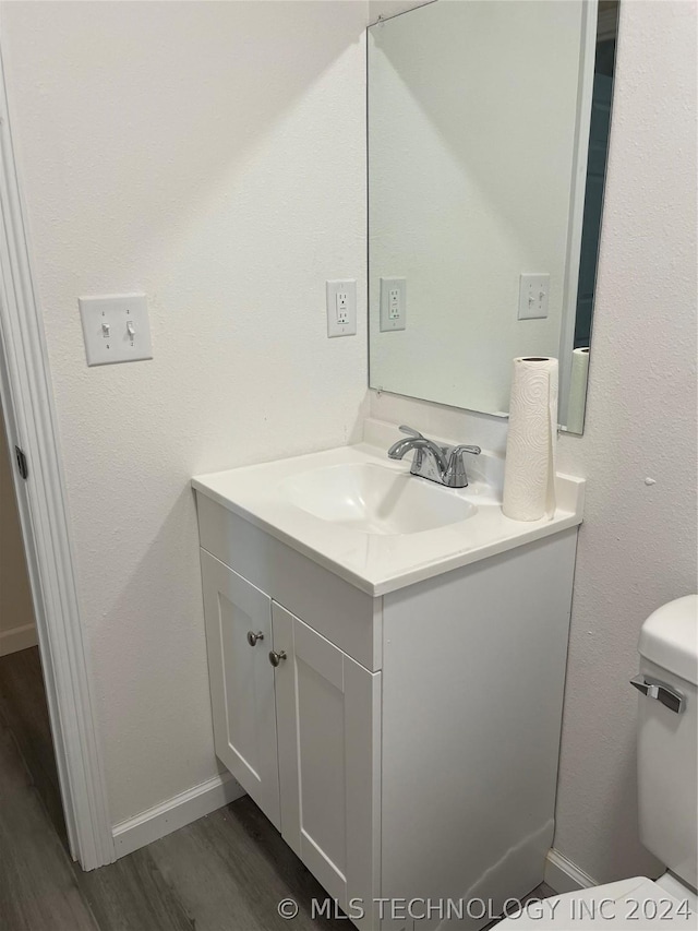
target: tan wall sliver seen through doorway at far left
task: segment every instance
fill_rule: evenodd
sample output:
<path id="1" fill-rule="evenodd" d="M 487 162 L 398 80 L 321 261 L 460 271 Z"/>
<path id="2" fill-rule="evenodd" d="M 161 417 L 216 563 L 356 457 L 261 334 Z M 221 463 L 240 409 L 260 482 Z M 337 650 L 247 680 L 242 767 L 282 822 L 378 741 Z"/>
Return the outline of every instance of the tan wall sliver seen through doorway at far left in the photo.
<path id="1" fill-rule="evenodd" d="M 0 408 L 0 656 L 36 643 L 34 606 Z"/>

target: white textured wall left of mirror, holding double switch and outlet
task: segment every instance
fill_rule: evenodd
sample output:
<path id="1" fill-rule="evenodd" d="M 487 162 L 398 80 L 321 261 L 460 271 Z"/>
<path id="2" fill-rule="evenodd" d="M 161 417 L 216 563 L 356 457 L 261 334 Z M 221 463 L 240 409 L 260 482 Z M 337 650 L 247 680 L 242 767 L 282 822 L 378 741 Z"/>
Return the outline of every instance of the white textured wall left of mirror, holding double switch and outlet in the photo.
<path id="1" fill-rule="evenodd" d="M 190 477 L 341 444 L 365 397 L 365 289 L 328 341 L 324 283 L 365 282 L 366 5 L 1 13 L 119 822 L 217 772 Z M 154 360 L 87 369 L 77 297 L 141 289 Z"/>

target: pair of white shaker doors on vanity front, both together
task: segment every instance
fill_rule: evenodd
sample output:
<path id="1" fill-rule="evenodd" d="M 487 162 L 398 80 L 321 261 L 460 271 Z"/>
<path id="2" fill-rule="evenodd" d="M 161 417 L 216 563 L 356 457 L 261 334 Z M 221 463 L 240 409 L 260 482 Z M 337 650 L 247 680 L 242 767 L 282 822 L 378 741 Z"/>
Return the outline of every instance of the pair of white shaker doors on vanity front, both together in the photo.
<path id="1" fill-rule="evenodd" d="M 201 562 L 216 754 L 339 907 L 372 902 L 381 672 L 205 549 Z"/>

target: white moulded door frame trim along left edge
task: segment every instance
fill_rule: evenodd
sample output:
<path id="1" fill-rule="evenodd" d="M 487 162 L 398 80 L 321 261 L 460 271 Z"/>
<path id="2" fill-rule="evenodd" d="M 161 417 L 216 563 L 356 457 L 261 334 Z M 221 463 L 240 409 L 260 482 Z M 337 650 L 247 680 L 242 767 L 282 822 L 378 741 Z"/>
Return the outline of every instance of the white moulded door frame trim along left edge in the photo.
<path id="1" fill-rule="evenodd" d="M 115 844 L 81 621 L 62 457 L 12 144 L 0 33 L 0 401 L 32 587 L 70 852 L 84 870 L 112 862 Z"/>

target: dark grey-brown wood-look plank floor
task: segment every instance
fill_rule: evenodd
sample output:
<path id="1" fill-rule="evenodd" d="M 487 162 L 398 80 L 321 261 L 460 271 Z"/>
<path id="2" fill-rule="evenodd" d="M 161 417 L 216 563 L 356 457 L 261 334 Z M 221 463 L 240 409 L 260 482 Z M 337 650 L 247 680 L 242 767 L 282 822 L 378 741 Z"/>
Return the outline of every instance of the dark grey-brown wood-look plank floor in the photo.
<path id="1" fill-rule="evenodd" d="M 540 896 L 552 895 L 541 886 Z M 0 658 L 2 931 L 348 931 L 311 918 L 326 894 L 248 798 L 84 873 L 67 852 L 36 647 Z M 294 899 L 292 921 L 278 903 Z"/>

